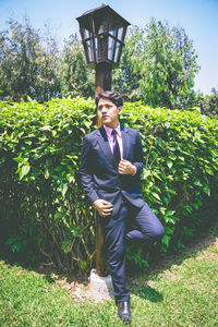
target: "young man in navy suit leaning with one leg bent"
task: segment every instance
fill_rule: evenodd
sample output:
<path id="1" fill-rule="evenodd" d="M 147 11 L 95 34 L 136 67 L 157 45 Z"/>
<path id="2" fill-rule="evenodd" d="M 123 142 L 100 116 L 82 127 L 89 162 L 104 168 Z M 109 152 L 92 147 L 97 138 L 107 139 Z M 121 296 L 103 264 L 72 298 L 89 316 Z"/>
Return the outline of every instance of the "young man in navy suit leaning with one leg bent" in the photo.
<path id="1" fill-rule="evenodd" d="M 102 92 L 96 98 L 96 106 L 102 126 L 84 138 L 81 180 L 86 196 L 102 219 L 118 315 L 130 324 L 125 241 L 157 240 L 164 235 L 164 227 L 142 198 L 142 142 L 136 130 L 120 125 L 122 97 L 116 92 Z M 125 233 L 128 216 L 138 229 Z"/>

